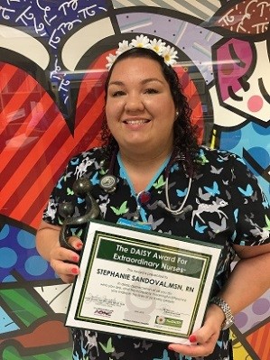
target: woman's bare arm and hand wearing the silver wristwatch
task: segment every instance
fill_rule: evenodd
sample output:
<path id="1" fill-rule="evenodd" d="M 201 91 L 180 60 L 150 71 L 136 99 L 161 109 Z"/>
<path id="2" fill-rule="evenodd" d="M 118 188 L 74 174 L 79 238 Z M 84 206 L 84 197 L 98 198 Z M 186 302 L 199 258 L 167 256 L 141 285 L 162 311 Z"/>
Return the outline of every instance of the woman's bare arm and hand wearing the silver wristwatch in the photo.
<path id="1" fill-rule="evenodd" d="M 240 260 L 218 296 L 225 300 L 236 315 L 259 298 L 270 287 L 270 244 L 234 246 Z M 210 304 L 203 326 L 191 335 L 194 345 L 170 344 L 182 355 L 205 356 L 213 352 L 225 316 L 219 306 Z"/>

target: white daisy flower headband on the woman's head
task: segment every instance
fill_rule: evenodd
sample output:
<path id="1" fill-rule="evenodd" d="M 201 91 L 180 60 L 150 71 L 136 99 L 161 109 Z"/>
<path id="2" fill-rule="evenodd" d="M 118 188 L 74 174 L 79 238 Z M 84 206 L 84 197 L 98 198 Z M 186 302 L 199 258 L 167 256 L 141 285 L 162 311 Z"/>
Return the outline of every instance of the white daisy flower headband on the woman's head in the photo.
<path id="1" fill-rule="evenodd" d="M 149 38 L 147 38 L 147 36 L 137 35 L 135 39 L 133 39 L 131 42 L 127 42 L 127 40 L 124 40 L 124 42 L 118 43 L 118 49 L 116 50 L 116 53 L 109 54 L 106 57 L 106 68 L 108 70 L 111 69 L 119 55 L 133 48 L 150 49 L 156 52 L 159 56 L 161 56 L 165 64 L 169 66 L 176 64 L 176 60 L 178 59 L 177 51 L 173 48 L 173 46 L 167 45 L 161 39 L 150 40 Z"/>

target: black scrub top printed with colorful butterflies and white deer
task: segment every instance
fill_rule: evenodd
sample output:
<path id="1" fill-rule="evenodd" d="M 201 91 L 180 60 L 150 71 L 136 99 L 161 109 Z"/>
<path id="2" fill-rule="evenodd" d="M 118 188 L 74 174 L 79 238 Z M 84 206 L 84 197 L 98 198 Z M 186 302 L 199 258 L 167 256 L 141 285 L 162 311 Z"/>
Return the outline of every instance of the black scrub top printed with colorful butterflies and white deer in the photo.
<path id="1" fill-rule="evenodd" d="M 119 217 L 133 220 L 139 210 L 139 220 L 150 224 L 153 231 L 222 245 L 212 295 L 217 294 L 228 279 L 230 263 L 235 256 L 233 244 L 252 246 L 269 243 L 269 204 L 258 187 L 256 177 L 235 154 L 200 147 L 200 169 L 191 182 L 190 194 L 185 204 L 191 205 L 192 210 L 180 216 L 172 216 L 158 206 L 157 202 L 162 200 L 166 204 L 165 173 L 169 173 L 171 207 L 175 209 L 181 206 L 189 184 L 182 163 L 175 162 L 170 166 L 164 164 L 145 189 L 148 191 L 149 201 L 144 201 L 144 204 L 138 207 L 140 204 L 135 190 L 119 157 L 116 158 L 113 171 L 117 177 L 116 191 L 107 194 L 100 189 L 99 178 L 104 174 L 102 160 L 100 148 L 82 152 L 70 160 L 44 211 L 43 219 L 46 222 L 61 226 L 62 218 L 58 213 L 58 204 L 62 202 L 73 203 L 75 217 L 85 214 L 85 200 L 74 195 L 72 185 L 79 177 L 88 178 L 93 185 L 92 195 L 96 198 L 105 220 L 112 223 L 116 223 Z M 84 228 L 72 229 L 72 233 L 83 239 Z M 166 343 L 144 338 L 117 336 L 78 328 L 72 329 L 72 336 L 73 360 L 194 359 L 169 351 Z M 232 359 L 228 330 L 220 332 L 212 355 L 197 358 L 202 359 Z"/>

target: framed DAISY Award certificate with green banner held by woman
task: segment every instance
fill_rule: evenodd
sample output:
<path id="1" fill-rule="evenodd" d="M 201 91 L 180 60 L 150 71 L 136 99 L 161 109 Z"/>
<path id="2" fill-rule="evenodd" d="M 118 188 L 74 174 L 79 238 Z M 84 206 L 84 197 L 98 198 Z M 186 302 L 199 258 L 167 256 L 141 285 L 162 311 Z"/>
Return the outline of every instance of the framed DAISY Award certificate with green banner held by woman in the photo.
<path id="1" fill-rule="evenodd" d="M 189 343 L 222 247 L 91 221 L 66 326 Z"/>

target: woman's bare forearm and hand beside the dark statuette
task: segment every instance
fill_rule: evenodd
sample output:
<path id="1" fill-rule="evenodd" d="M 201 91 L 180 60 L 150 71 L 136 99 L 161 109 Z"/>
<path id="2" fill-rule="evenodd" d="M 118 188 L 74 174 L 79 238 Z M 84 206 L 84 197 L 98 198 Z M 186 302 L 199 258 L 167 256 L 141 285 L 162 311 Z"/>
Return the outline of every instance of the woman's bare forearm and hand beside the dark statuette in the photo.
<path id="1" fill-rule="evenodd" d="M 71 236 L 69 244 L 74 247 L 74 251 L 61 247 L 59 234 L 61 227 L 53 226 L 42 221 L 36 234 L 36 248 L 38 253 L 47 260 L 52 269 L 60 276 L 63 282 L 73 282 L 76 275 L 79 274 L 79 251 L 82 242 L 79 237 Z"/>

